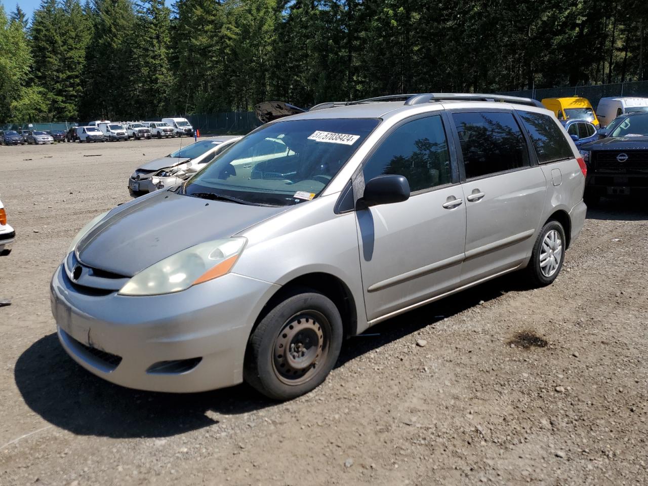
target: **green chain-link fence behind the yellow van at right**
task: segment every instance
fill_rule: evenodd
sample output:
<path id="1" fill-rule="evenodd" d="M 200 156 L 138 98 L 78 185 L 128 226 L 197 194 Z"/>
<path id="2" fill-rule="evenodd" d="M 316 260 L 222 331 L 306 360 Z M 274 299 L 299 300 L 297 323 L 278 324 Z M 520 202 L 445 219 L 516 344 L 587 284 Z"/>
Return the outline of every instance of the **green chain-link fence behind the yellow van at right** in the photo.
<path id="1" fill-rule="evenodd" d="M 648 97 L 648 81 L 629 83 L 597 84 L 593 86 L 548 87 L 542 89 L 523 89 L 505 91 L 499 95 L 511 95 L 542 100 L 543 98 L 564 98 L 578 96 L 587 98 L 594 108 L 601 98 L 606 97 Z"/>

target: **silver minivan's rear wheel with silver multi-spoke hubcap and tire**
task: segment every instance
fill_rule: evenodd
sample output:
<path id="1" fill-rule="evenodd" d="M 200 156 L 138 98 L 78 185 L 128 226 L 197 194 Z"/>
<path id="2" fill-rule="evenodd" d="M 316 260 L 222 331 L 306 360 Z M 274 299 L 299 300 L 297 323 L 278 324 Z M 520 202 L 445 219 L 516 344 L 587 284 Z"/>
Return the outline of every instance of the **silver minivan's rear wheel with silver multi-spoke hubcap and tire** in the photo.
<path id="1" fill-rule="evenodd" d="M 529 285 L 544 287 L 553 283 L 561 272 L 562 262 L 564 262 L 565 242 L 564 229 L 556 220 L 550 220 L 542 227 L 526 268 Z M 544 266 L 541 265 L 541 260 Z"/>

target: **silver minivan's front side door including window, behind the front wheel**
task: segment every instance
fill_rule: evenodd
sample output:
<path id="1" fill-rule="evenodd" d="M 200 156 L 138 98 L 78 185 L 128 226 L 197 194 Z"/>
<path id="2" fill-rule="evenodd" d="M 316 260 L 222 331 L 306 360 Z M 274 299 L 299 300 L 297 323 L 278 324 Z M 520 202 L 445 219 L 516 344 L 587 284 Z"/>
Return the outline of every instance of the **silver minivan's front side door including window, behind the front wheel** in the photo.
<path id="1" fill-rule="evenodd" d="M 370 322 L 459 283 L 466 206 L 453 167 L 441 116 L 428 115 L 397 126 L 358 175 L 367 182 L 381 174 L 399 174 L 411 190 L 405 202 L 356 211 Z"/>

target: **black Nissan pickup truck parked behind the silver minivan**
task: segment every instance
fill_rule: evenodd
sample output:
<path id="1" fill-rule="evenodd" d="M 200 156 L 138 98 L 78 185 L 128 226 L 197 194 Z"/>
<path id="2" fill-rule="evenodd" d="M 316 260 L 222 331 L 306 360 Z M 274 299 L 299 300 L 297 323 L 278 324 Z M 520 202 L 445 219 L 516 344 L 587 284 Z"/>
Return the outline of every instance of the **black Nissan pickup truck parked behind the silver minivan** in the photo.
<path id="1" fill-rule="evenodd" d="M 581 156 L 588 205 L 601 197 L 648 196 L 648 113 L 625 115 L 603 138 L 582 145 Z"/>

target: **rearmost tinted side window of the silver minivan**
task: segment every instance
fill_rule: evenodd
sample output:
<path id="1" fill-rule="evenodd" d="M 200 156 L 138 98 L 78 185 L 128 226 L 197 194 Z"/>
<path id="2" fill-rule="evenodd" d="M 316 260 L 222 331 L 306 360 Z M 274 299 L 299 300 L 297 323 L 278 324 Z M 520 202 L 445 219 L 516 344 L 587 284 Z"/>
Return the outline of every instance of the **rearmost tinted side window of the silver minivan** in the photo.
<path id="1" fill-rule="evenodd" d="M 550 115 L 518 111 L 522 124 L 529 132 L 538 163 L 544 164 L 557 160 L 572 159 L 572 147 Z"/>

